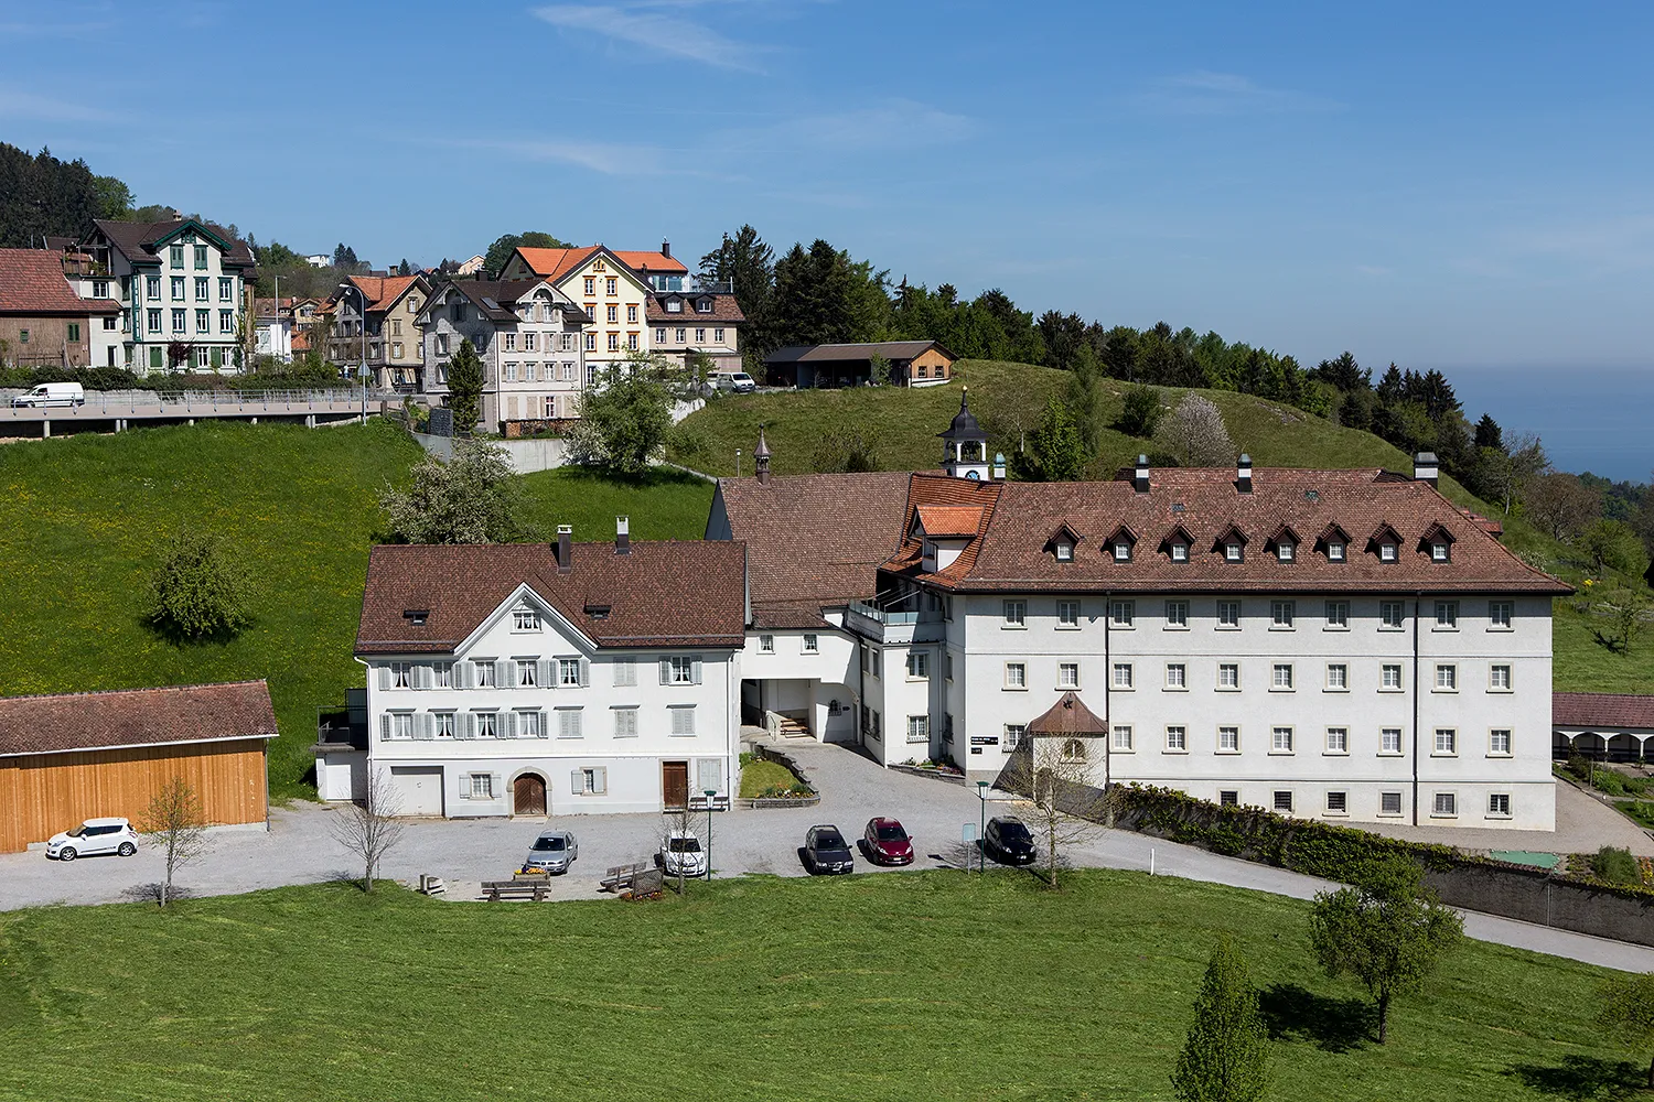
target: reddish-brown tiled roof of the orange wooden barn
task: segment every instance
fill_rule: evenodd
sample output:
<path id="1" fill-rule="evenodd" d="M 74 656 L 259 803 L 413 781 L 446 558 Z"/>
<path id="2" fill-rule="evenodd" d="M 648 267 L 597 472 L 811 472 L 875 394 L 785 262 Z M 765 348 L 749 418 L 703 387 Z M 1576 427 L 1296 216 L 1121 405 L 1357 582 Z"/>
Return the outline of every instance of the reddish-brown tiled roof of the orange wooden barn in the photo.
<path id="1" fill-rule="evenodd" d="M 0 757 L 275 737 L 263 681 L 0 699 Z"/>

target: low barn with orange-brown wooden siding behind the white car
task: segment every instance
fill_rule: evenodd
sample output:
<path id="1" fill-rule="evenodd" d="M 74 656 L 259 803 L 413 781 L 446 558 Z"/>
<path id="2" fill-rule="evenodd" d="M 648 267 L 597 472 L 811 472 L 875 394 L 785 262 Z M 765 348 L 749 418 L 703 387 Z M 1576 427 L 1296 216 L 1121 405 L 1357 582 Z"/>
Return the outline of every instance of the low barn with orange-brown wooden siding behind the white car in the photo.
<path id="1" fill-rule="evenodd" d="M 182 777 L 208 823 L 261 823 L 276 714 L 263 681 L 0 699 L 0 853 L 142 818 Z"/>

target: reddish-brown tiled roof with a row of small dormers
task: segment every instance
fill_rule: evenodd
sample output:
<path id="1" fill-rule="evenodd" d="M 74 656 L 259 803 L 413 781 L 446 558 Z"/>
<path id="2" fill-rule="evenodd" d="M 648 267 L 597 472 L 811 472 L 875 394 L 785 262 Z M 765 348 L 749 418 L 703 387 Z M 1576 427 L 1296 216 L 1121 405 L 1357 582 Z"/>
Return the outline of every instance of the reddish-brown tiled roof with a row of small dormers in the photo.
<path id="1" fill-rule="evenodd" d="M 941 481 L 915 476 L 913 504 L 958 504 L 959 491 Z M 989 492 L 989 484 L 974 486 L 981 489 L 966 492 Z M 1411 477 L 1378 469 L 1260 468 L 1252 473 L 1252 492 L 1240 492 L 1231 468 L 1158 471 L 1143 494 L 1130 479 L 1004 482 L 992 491 L 996 502 L 982 535 L 930 580 L 963 591 L 1571 591 L 1510 553 L 1432 486 Z M 1073 562 L 1057 562 L 1047 549 L 1050 532 L 1064 524 L 1085 540 Z M 1290 563 L 1265 550 L 1282 525 L 1310 534 L 1330 524 L 1358 534 L 1394 530 L 1401 540 L 1398 560 L 1379 562 L 1376 549 L 1363 542 L 1350 545 L 1346 562 L 1330 562 L 1323 549 L 1307 545 Z M 1103 553 L 1107 537 L 1121 525 L 1140 539 L 1125 563 Z M 1431 562 L 1429 549 L 1421 545 L 1432 525 L 1454 537 L 1451 562 Z M 1174 527 L 1194 539 L 1188 562 L 1173 562 L 1161 550 Z M 1247 540 L 1239 563 L 1224 562 L 1219 547 L 1231 529 Z M 916 549 L 903 552 L 890 568 L 916 577 Z"/>

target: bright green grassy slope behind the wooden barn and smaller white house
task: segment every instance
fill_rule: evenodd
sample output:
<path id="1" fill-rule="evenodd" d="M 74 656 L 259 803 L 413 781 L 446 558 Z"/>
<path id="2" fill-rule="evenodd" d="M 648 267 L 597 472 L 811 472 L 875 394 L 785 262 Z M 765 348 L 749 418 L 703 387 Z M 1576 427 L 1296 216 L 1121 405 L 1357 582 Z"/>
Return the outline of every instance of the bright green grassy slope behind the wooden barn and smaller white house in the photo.
<path id="1" fill-rule="evenodd" d="M 208 423 L 0 448 L 0 694 L 268 677 L 281 737 L 271 791 L 311 793 L 316 709 L 362 684 L 351 658 L 375 494 L 420 449 L 382 421 L 304 430 Z M 524 479 L 529 520 L 612 539 L 700 539 L 711 486 L 681 474 L 612 484 L 582 473 Z M 255 580 L 251 628 L 175 646 L 144 621 L 146 583 L 172 532 L 222 535 Z"/>

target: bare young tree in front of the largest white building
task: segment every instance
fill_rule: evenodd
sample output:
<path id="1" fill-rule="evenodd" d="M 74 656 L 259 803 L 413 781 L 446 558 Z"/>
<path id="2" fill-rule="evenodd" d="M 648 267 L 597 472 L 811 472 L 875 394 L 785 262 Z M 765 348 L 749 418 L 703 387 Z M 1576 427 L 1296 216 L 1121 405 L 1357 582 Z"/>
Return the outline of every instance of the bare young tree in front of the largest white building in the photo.
<path id="1" fill-rule="evenodd" d="M 1093 783 L 1102 753 L 1102 737 L 1024 735 L 1001 781 L 1027 801 L 1019 815 L 1044 851 L 1040 872 L 1052 891 L 1065 851 L 1103 829 L 1108 796 Z"/>

